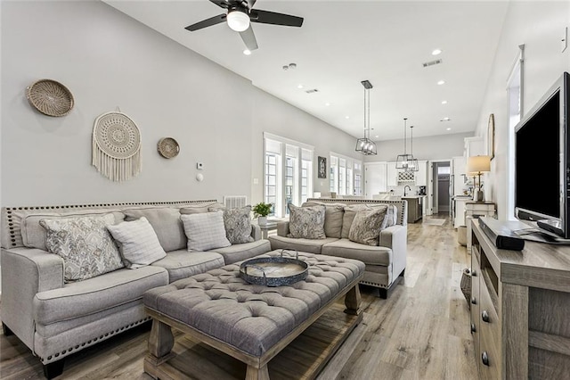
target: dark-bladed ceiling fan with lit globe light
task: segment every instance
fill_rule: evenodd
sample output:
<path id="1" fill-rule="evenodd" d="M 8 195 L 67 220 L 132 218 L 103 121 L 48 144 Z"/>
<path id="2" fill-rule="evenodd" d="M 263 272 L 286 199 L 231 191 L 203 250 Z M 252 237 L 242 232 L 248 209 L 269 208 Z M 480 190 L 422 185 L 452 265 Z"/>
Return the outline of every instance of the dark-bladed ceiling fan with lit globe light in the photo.
<path id="1" fill-rule="evenodd" d="M 282 25 L 286 27 L 300 27 L 303 25 L 303 18 L 291 16 L 289 14 L 262 11 L 253 9 L 256 0 L 209 0 L 220 8 L 227 9 L 226 14 L 218 14 L 207 20 L 196 22 L 184 29 L 194 31 L 226 21 L 228 26 L 240 33 L 240 37 L 249 51 L 256 50 L 256 36 L 251 29 L 250 22 L 262 24 Z"/>

